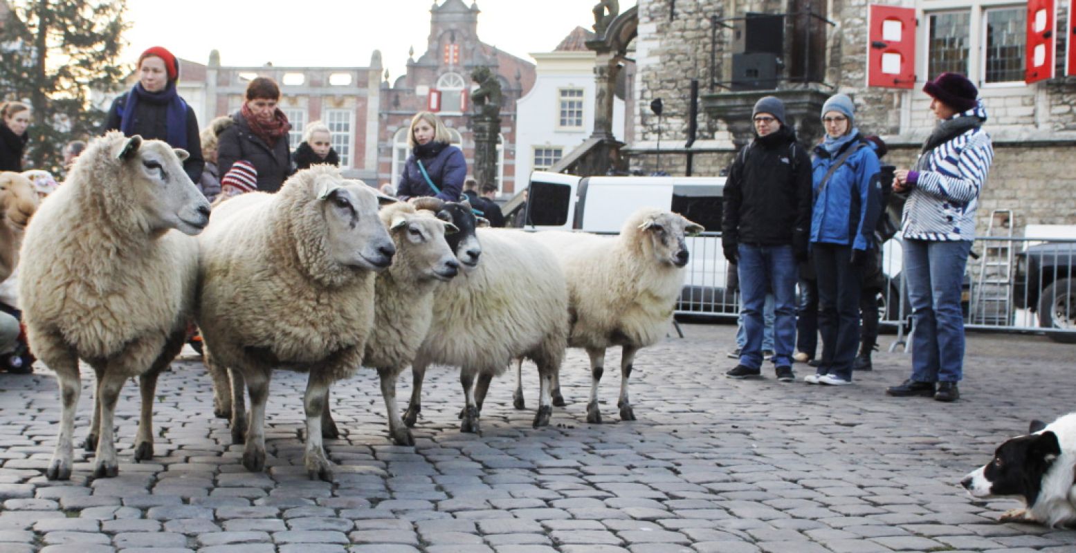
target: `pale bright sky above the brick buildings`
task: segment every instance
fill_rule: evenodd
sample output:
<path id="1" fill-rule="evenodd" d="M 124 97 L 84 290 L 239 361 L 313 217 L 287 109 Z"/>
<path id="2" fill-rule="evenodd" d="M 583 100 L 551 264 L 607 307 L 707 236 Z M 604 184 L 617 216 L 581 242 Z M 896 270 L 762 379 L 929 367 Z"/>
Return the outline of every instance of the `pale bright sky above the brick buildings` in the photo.
<path id="1" fill-rule="evenodd" d="M 444 0 L 438 0 L 442 3 Z M 468 6 L 471 0 L 464 0 Z M 577 26 L 594 24 L 594 0 L 479 0 L 482 42 L 534 62 Z M 635 5 L 621 0 L 621 11 Z M 374 49 L 391 79 L 404 74 L 408 48 L 425 52 L 433 0 L 128 0 L 123 61 L 150 46 L 224 66 L 365 67 Z"/>

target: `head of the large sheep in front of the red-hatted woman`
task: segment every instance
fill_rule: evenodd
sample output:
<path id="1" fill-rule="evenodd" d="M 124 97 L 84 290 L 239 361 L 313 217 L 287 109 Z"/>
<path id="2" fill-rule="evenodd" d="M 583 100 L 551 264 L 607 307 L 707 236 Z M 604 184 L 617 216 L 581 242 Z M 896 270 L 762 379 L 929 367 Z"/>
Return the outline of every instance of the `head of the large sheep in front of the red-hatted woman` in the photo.
<path id="1" fill-rule="evenodd" d="M 115 140 L 110 132 L 104 140 L 113 142 L 111 155 L 127 172 L 127 179 L 119 181 L 126 189 L 118 193 L 142 208 L 152 230 L 175 228 L 195 236 L 206 228 L 209 201 L 183 170 L 186 151 L 160 140 L 142 140 L 137 134 Z"/>

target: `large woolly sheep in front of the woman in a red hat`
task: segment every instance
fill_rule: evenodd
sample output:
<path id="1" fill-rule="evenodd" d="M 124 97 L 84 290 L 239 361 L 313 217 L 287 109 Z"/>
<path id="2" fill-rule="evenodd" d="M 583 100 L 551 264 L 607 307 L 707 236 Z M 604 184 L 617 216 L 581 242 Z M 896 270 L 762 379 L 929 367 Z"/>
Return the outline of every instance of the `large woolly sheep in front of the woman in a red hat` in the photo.
<path id="1" fill-rule="evenodd" d="M 113 419 L 128 378 L 139 378 L 142 396 L 134 459 L 153 457 L 157 377 L 183 346 L 197 276 L 190 236 L 210 212 L 183 171 L 186 157 L 161 141 L 109 132 L 30 219 L 19 304 L 31 350 L 56 371 L 62 409 L 49 480 L 71 477 L 79 359 L 97 374 L 86 441 L 97 450 L 94 474 L 118 473 Z"/>

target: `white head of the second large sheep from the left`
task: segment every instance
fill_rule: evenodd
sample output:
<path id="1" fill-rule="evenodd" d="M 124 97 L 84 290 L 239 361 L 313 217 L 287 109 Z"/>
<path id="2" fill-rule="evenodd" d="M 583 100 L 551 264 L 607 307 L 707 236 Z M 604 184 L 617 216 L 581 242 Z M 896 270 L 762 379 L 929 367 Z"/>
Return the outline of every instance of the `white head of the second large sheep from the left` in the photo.
<path id="1" fill-rule="evenodd" d="M 315 176 L 314 190 L 325 221 L 324 243 L 332 260 L 370 271 L 392 265 L 396 246 L 378 217 L 378 205 L 395 200 L 358 181 L 343 179 L 336 170 L 316 172 L 321 174 Z"/>

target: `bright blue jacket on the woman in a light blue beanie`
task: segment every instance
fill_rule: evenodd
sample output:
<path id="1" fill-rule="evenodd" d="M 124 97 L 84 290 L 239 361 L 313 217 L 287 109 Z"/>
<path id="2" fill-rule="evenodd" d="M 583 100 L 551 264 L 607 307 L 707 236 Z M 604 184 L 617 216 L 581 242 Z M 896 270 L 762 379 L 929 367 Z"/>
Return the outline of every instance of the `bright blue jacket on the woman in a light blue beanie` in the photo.
<path id="1" fill-rule="evenodd" d="M 837 168 L 825 187 L 821 188 L 830 167 L 850 147 L 859 150 Z M 821 145 L 815 147 L 811 161 L 815 192 L 810 222 L 812 243 L 850 244 L 853 250 L 872 247 L 874 228 L 881 211 L 879 167 L 874 148 L 861 137 L 850 140 L 833 157 Z"/>

